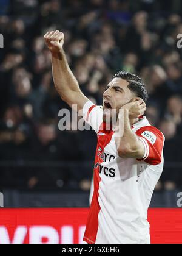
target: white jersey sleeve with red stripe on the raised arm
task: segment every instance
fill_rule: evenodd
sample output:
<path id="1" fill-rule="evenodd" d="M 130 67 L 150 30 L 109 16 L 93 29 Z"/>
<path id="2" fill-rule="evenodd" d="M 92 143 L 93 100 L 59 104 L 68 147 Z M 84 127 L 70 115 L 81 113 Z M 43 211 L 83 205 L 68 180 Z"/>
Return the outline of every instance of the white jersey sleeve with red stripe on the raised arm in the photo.
<path id="1" fill-rule="evenodd" d="M 93 104 L 92 101 L 87 101 L 83 107 L 83 119 L 97 133 L 103 123 L 103 107 Z"/>

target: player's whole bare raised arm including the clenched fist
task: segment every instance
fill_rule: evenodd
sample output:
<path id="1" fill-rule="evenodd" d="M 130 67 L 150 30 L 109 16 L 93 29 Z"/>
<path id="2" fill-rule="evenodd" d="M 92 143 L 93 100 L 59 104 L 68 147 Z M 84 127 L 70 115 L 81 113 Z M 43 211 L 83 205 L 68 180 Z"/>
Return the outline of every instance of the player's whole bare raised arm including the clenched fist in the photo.
<path id="1" fill-rule="evenodd" d="M 58 30 L 47 32 L 44 35 L 44 40 L 51 52 L 52 73 L 56 90 L 61 99 L 70 107 L 76 104 L 78 111 L 81 110 L 89 99 L 81 92 L 78 82 L 67 63 L 63 49 L 64 34 Z"/>

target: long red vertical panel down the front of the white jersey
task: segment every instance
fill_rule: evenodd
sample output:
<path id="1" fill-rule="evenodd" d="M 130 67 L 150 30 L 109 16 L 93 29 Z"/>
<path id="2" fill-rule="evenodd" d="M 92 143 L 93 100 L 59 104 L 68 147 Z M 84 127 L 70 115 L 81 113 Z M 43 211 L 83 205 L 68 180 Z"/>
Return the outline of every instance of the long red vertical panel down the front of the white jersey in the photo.
<path id="1" fill-rule="evenodd" d="M 110 143 L 113 135 L 113 131 L 104 130 L 105 123 L 102 123 L 99 129 L 99 132 L 105 133 L 105 135 L 98 135 L 98 143 L 96 147 L 96 155 L 95 155 L 95 165 L 98 164 L 94 168 L 94 192 L 92 197 L 92 203 L 90 205 L 89 216 L 87 218 L 86 232 L 84 233 L 83 240 L 89 244 L 95 244 L 96 235 L 98 232 L 98 215 L 101 209 L 98 197 L 99 197 L 99 183 L 101 181 L 101 177 L 99 176 L 99 164 L 104 161 L 104 148 L 107 144 Z M 99 133 L 98 132 L 98 133 Z"/>

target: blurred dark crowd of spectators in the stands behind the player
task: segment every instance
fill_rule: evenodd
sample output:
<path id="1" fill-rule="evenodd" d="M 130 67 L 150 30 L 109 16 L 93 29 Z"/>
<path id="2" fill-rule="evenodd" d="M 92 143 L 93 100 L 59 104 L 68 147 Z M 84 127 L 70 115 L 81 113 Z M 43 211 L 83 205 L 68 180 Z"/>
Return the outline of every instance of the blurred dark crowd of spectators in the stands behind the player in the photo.
<path id="1" fill-rule="evenodd" d="M 53 87 L 43 38 L 58 29 L 65 35 L 70 68 L 95 104 L 102 104 L 117 71 L 144 79 L 149 91 L 146 116 L 166 137 L 157 190 L 180 187 L 181 13 L 182 3 L 175 0 L 1 0 L 0 186 L 89 189 L 92 168 L 70 163 L 93 163 L 95 133 L 58 130 L 58 112 L 68 107 Z M 50 165 L 59 161 L 62 166 Z"/>

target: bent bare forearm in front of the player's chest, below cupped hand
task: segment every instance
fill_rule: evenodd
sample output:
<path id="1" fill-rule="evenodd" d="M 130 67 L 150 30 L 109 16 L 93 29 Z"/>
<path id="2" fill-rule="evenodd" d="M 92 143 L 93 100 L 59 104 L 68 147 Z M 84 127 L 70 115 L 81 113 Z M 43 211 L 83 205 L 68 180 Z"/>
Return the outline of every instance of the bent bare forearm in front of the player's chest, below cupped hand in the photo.
<path id="1" fill-rule="evenodd" d="M 121 157 L 140 158 L 144 154 L 143 144 L 131 129 L 129 110 L 127 109 L 122 109 L 118 116 L 115 143 Z"/>

